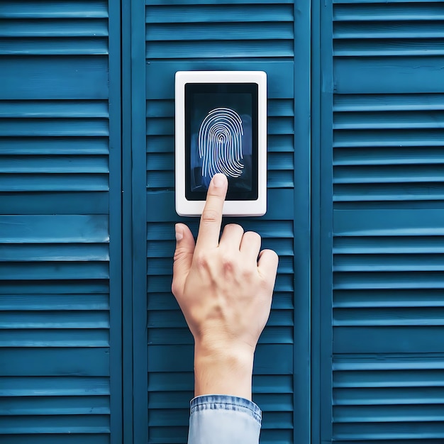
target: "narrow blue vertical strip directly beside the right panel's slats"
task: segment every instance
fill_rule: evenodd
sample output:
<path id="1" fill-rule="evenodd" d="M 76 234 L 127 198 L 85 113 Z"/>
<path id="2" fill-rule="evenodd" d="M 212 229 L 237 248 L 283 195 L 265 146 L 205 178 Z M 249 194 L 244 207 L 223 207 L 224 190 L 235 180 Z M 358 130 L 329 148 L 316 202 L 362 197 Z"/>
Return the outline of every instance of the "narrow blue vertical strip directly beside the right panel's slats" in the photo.
<path id="1" fill-rule="evenodd" d="M 331 443 L 333 5 L 311 9 L 311 443 Z"/>

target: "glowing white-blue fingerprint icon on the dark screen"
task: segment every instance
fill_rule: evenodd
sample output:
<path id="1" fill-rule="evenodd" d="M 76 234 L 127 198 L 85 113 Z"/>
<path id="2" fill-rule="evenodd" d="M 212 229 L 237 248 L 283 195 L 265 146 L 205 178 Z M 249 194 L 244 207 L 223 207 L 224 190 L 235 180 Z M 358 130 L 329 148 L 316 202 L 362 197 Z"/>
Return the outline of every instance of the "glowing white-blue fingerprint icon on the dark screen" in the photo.
<path id="1" fill-rule="evenodd" d="M 242 119 L 232 109 L 216 108 L 206 115 L 199 130 L 203 177 L 211 178 L 218 172 L 228 177 L 242 174 L 242 136 Z"/>

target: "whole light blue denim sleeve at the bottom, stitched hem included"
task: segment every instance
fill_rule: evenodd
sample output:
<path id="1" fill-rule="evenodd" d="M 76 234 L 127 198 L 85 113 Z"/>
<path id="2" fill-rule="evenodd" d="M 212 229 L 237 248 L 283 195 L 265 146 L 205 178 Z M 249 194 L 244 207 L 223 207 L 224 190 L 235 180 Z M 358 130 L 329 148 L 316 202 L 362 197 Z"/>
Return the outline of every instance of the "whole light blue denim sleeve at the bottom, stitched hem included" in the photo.
<path id="1" fill-rule="evenodd" d="M 211 394 L 191 401 L 188 444 L 257 444 L 262 412 L 252 401 Z"/>

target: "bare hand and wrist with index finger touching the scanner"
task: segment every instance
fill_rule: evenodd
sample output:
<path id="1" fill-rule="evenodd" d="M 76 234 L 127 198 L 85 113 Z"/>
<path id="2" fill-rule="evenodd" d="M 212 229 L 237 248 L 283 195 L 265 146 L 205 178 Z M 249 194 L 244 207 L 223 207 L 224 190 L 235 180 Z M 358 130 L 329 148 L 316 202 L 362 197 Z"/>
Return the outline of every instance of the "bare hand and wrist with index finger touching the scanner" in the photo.
<path id="1" fill-rule="evenodd" d="M 199 235 L 176 226 L 172 292 L 194 336 L 195 395 L 251 398 L 252 360 L 270 315 L 277 254 L 236 224 L 221 232 L 228 182 L 211 180 Z"/>

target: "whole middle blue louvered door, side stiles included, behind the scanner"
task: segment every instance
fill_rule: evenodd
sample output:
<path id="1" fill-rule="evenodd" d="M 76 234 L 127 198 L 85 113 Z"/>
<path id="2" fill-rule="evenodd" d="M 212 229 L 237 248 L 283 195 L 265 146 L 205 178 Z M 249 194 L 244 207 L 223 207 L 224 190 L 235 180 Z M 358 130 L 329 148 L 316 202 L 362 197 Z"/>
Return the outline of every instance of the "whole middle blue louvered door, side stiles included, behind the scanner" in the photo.
<path id="1" fill-rule="evenodd" d="M 148 430 L 135 429 L 138 442 L 185 443 L 193 396 L 192 336 L 170 289 L 179 221 L 174 211 L 174 73 L 179 70 L 267 72 L 268 211 L 262 218 L 231 221 L 259 231 L 263 247 L 280 257 L 270 321 L 255 355 L 253 399 L 264 411 L 261 442 L 309 440 L 310 24 L 309 4 L 300 3 L 133 1 L 132 38 L 138 42 L 132 65 L 133 116 L 138 116 L 133 196 L 140 236 L 135 240 L 140 260 L 134 287 L 140 333 L 135 409 L 148 412 Z M 196 233 L 196 218 L 181 220 Z M 148 334 L 141 336 L 147 325 Z M 147 381 L 148 396 L 141 389 Z"/>

